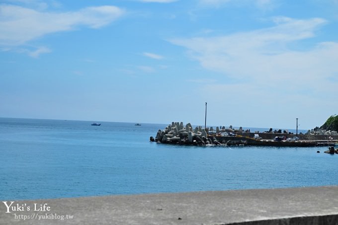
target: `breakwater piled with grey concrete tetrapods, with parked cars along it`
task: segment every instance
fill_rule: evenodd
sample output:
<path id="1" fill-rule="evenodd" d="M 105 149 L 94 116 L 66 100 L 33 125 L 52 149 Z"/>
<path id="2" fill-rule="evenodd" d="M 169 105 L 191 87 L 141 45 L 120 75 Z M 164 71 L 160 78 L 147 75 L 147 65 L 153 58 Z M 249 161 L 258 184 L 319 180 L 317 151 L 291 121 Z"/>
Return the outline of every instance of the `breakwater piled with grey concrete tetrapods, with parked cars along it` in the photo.
<path id="1" fill-rule="evenodd" d="M 276 137 L 278 137 L 276 139 Z M 233 129 L 232 126 L 192 127 L 190 123 L 172 122 L 164 130 L 157 132 L 156 138 L 150 141 L 165 144 L 180 145 L 255 145 L 255 146 L 289 146 L 315 147 L 338 144 L 338 135 L 335 131 L 313 131 L 307 134 L 293 134 L 287 131 L 270 129 L 267 132 L 250 132 L 250 130 Z"/>

